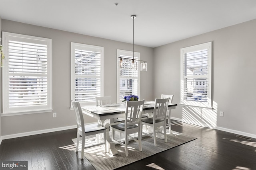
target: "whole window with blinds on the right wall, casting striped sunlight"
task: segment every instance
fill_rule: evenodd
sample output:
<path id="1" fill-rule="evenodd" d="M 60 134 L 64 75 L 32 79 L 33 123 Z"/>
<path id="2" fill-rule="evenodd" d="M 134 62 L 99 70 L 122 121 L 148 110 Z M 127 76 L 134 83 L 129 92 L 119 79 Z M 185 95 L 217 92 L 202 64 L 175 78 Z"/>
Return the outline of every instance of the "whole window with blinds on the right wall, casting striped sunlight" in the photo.
<path id="1" fill-rule="evenodd" d="M 180 50 L 181 104 L 199 107 L 212 107 L 211 51 L 211 42 L 182 48 Z"/>

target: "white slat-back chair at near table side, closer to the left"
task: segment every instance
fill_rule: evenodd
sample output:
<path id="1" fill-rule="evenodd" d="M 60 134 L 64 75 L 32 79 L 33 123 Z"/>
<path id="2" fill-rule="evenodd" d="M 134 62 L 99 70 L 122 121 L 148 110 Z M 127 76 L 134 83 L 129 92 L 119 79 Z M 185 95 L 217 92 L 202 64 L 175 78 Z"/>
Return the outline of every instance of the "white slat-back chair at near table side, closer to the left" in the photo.
<path id="1" fill-rule="evenodd" d="M 125 121 L 124 123 L 120 123 L 117 125 L 112 125 L 112 141 L 122 145 L 125 147 L 125 156 L 128 156 L 128 143 L 129 137 L 130 139 L 138 142 L 139 150 L 142 151 L 141 145 L 141 115 L 143 111 L 144 100 L 136 101 L 136 102 L 126 102 L 126 110 L 125 110 Z M 124 141 L 119 138 L 119 140 L 115 139 L 115 132 L 119 132 L 124 134 Z M 132 137 L 131 134 L 138 133 L 137 137 Z M 124 143 L 123 143 L 124 142 Z"/>

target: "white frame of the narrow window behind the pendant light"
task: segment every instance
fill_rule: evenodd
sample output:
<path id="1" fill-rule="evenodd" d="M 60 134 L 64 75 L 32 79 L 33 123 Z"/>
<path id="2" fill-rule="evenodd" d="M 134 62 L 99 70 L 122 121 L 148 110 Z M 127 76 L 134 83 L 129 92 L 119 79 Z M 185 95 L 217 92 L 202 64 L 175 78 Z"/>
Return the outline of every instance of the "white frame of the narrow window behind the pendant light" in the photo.
<path id="1" fill-rule="evenodd" d="M 116 101 L 117 103 L 122 102 L 123 99 L 120 99 L 120 56 L 124 55 L 124 56 L 129 56 L 132 57 L 134 53 L 134 58 L 136 57 L 138 60 L 140 60 L 140 52 L 133 52 L 133 51 L 126 51 L 126 50 L 121 50 L 121 49 L 117 49 L 117 95 L 116 95 Z M 140 98 L 140 62 L 139 61 L 135 61 L 137 62 L 137 71 L 138 71 L 138 76 L 137 76 L 137 80 L 138 80 L 138 94 L 133 94 L 133 95 L 137 95 Z"/>

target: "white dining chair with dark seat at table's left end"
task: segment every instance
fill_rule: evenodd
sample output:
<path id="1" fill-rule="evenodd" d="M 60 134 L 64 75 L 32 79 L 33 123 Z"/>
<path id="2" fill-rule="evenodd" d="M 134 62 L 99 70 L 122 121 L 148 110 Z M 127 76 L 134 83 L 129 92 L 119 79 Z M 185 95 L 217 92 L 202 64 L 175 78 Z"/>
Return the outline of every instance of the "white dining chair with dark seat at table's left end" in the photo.
<path id="1" fill-rule="evenodd" d="M 78 145 L 79 145 L 79 139 L 80 136 L 82 136 L 82 149 L 81 149 L 81 159 L 84 158 L 84 149 L 96 147 L 99 145 L 104 145 L 105 152 L 107 152 L 106 148 L 106 127 L 103 127 L 102 125 L 98 123 L 92 123 L 89 125 L 84 125 L 84 117 L 82 113 L 82 109 L 79 102 L 74 102 L 71 100 L 72 105 L 74 107 L 74 111 L 76 113 L 76 136 L 77 136 L 77 142 L 76 142 L 76 152 L 78 152 Z M 90 135 L 98 135 L 99 133 L 104 133 L 104 142 L 99 142 L 97 140 L 97 143 L 92 142 L 91 145 L 87 145 L 85 147 L 85 137 Z"/>

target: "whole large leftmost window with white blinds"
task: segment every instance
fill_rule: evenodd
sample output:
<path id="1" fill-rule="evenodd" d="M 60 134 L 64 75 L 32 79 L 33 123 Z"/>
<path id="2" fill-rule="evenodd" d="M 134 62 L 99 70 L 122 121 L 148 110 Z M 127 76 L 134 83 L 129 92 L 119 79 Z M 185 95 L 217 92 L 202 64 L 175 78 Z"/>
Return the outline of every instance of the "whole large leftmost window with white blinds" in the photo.
<path id="1" fill-rule="evenodd" d="M 3 113 L 52 111 L 52 40 L 3 32 Z"/>

